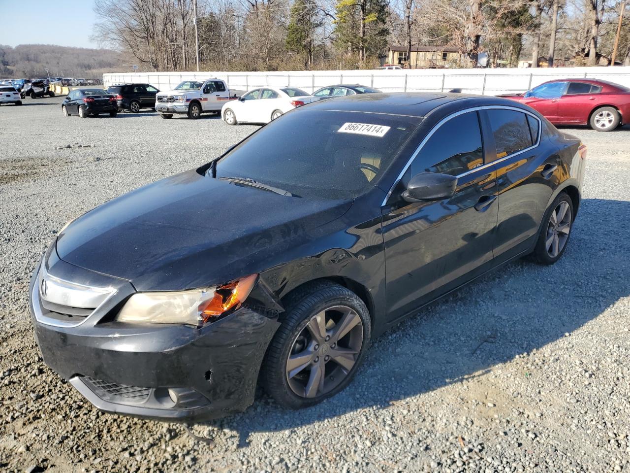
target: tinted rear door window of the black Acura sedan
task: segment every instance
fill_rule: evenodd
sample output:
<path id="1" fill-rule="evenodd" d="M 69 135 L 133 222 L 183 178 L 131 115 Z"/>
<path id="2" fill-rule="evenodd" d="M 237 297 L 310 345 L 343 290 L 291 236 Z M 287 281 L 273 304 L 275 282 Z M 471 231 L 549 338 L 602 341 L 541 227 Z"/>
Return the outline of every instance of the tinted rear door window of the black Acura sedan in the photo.
<path id="1" fill-rule="evenodd" d="M 524 113 L 496 108 L 488 110 L 488 117 L 495 137 L 497 158 L 532 146 L 527 115 Z"/>

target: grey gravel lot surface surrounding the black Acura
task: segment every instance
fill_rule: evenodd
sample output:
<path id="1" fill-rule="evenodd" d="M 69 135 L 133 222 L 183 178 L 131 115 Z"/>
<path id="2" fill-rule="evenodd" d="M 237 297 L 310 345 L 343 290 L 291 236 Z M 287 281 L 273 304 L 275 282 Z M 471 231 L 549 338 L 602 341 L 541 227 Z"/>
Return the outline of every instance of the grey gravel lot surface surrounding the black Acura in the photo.
<path id="1" fill-rule="evenodd" d="M 423 310 L 319 406 L 286 411 L 262 395 L 193 426 L 210 446 L 178 424 L 86 402 L 43 364 L 27 288 L 67 220 L 255 127 L 154 113 L 81 120 L 59 104 L 0 108 L 0 470 L 630 471 L 630 127 L 567 129 L 588 165 L 558 264 L 515 262 Z"/>

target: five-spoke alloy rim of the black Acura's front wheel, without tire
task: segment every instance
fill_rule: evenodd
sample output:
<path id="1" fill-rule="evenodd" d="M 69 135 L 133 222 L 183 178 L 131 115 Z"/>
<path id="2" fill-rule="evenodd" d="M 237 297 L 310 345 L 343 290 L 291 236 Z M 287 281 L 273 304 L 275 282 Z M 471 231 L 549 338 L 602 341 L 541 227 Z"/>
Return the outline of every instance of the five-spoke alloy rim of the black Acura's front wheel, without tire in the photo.
<path id="1" fill-rule="evenodd" d="M 300 397 L 318 397 L 352 371 L 363 344 L 358 313 L 336 305 L 314 315 L 295 338 L 287 358 L 289 387 Z"/>

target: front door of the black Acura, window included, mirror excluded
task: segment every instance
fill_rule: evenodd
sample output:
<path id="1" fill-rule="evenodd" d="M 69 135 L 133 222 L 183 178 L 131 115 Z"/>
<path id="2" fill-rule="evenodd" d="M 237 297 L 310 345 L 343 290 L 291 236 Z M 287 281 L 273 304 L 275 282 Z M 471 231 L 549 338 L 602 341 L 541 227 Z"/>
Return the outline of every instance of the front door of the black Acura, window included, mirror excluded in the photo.
<path id="1" fill-rule="evenodd" d="M 399 197 L 414 175 L 457 176 L 450 199 Z M 382 209 L 389 320 L 454 289 L 491 266 L 498 215 L 496 173 L 484 166 L 478 112 L 452 117 L 420 149 Z"/>

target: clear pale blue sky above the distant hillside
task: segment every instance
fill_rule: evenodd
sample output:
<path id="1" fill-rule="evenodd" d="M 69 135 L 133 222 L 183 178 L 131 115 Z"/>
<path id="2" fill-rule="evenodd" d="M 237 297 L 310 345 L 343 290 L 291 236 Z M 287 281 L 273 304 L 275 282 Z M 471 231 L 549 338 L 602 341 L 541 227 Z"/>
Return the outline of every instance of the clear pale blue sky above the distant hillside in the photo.
<path id="1" fill-rule="evenodd" d="M 93 0 L 0 0 L 0 44 L 98 47 L 89 40 L 96 21 L 93 7 Z"/>

